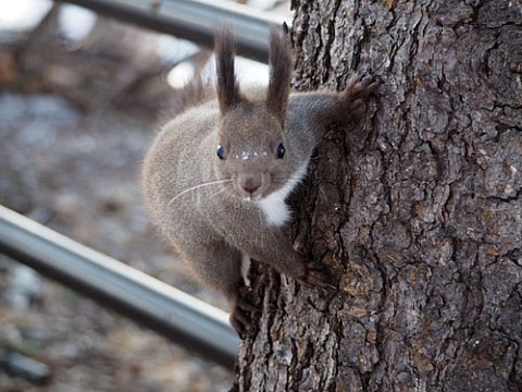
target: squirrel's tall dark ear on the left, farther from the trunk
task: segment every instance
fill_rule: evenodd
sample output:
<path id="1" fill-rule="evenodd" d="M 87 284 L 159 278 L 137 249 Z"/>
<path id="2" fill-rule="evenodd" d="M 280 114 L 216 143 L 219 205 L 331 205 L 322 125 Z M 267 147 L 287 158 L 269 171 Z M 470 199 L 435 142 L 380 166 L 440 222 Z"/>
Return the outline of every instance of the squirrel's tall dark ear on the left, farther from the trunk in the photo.
<path id="1" fill-rule="evenodd" d="M 215 35 L 215 69 L 217 73 L 217 101 L 221 114 L 240 101 L 239 84 L 234 70 L 236 41 L 231 27 L 221 28 Z"/>

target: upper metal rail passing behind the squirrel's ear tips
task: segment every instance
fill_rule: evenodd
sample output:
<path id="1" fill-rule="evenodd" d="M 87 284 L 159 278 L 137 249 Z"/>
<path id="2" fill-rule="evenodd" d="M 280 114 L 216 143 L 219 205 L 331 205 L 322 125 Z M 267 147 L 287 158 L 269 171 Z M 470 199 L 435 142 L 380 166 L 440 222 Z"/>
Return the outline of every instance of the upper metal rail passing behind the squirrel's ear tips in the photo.
<path id="1" fill-rule="evenodd" d="M 152 30 L 172 34 L 207 47 L 224 24 L 235 32 L 238 53 L 269 59 L 270 26 L 284 19 L 275 13 L 223 0 L 55 0 L 70 2 Z"/>

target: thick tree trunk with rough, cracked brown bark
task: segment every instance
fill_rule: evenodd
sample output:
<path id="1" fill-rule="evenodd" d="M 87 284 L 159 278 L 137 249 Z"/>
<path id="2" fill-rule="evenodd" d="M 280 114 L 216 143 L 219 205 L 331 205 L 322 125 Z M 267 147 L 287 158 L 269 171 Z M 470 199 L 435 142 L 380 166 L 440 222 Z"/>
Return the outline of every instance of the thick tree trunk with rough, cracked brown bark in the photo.
<path id="1" fill-rule="evenodd" d="M 253 271 L 234 390 L 522 390 L 522 1 L 293 7 L 296 88 L 383 85 L 294 195 L 340 290 Z"/>

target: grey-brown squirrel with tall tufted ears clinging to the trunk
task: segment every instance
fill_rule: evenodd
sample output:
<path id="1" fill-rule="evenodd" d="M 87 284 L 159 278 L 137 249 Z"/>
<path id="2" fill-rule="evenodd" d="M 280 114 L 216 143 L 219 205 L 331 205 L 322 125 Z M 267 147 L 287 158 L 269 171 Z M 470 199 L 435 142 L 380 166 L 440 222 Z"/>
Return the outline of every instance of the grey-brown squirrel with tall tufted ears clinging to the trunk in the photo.
<path id="1" fill-rule="evenodd" d="M 166 123 L 146 155 L 148 212 L 200 280 L 231 302 L 231 324 L 251 331 L 241 266 L 264 262 L 307 286 L 335 287 L 330 269 L 283 235 L 287 196 L 307 174 L 326 125 L 359 108 L 376 83 L 351 78 L 341 93 L 290 93 L 289 40 L 271 30 L 268 89 L 241 90 L 231 28 L 215 36 L 216 99 Z"/>

